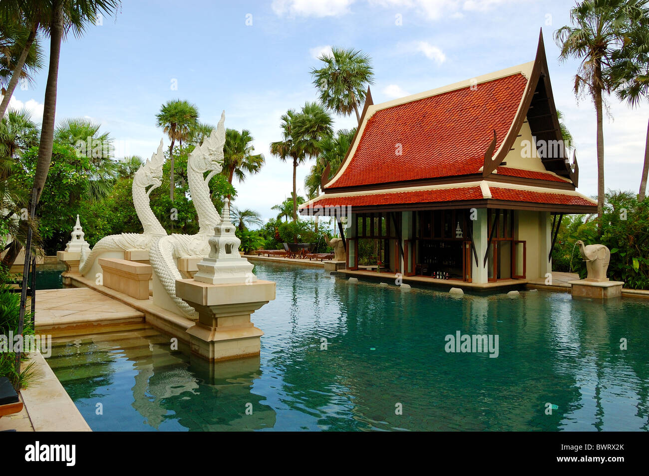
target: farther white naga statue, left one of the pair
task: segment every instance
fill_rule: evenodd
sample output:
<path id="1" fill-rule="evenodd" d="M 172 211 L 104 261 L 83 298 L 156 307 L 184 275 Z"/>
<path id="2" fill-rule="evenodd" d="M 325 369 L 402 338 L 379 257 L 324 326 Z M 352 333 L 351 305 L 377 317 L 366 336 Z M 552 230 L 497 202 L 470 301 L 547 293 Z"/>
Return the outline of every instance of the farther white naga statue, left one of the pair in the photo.
<path id="1" fill-rule="evenodd" d="M 108 235 L 97 241 L 90 253 L 82 250 L 79 265 L 79 274 L 94 278 L 101 272 L 99 257 L 123 258 L 123 252 L 130 249 L 148 249 L 154 239 L 167 235 L 160 221 L 151 211 L 149 194 L 153 189 L 162 184 L 162 165 L 165 158 L 162 151 L 162 140 L 158 151 L 151 156 L 151 160 L 141 165 L 134 174 L 132 195 L 135 211 L 142 224 L 143 233 L 121 233 L 121 235 Z M 147 187 L 149 189 L 147 190 Z"/>

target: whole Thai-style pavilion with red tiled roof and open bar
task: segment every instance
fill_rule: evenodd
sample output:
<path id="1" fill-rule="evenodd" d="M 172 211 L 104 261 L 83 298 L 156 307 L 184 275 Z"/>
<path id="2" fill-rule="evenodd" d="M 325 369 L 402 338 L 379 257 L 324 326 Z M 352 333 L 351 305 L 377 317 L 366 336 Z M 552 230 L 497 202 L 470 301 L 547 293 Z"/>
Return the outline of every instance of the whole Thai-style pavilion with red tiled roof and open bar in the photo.
<path id="1" fill-rule="evenodd" d="M 351 212 L 349 270 L 369 241 L 391 274 L 545 278 L 561 217 L 596 211 L 561 139 L 541 34 L 526 64 L 382 104 L 368 89 L 345 160 L 300 213 Z"/>

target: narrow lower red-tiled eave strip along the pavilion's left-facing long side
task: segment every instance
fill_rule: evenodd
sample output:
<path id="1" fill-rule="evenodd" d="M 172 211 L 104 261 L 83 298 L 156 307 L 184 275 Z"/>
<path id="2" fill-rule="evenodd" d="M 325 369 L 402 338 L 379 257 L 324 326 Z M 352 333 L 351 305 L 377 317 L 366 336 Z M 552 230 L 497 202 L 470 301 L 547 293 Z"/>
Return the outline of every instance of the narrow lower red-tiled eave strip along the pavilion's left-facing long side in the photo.
<path id="1" fill-rule="evenodd" d="M 450 202 L 454 200 L 482 200 L 480 185 L 476 185 L 475 187 L 373 193 L 368 195 L 345 195 L 334 197 L 321 195 L 321 198 L 316 198 L 307 208 L 311 208 L 314 205 L 321 207 L 360 207 L 371 205 Z"/>

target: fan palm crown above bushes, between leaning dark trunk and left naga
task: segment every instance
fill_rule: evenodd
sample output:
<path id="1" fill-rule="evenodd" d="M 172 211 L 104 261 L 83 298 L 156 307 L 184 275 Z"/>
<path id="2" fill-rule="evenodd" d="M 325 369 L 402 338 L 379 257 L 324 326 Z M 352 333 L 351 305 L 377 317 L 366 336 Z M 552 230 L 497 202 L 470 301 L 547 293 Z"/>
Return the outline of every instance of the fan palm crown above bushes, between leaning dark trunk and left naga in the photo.
<path id="1" fill-rule="evenodd" d="M 112 160 L 113 138 L 108 132 L 99 132 L 99 128 L 100 124 L 77 117 L 61 121 L 54 130 L 56 142 L 77 149 L 77 154 L 88 157 L 95 169 L 86 196 L 90 203 L 108 196 L 119 173 L 119 163 Z"/>

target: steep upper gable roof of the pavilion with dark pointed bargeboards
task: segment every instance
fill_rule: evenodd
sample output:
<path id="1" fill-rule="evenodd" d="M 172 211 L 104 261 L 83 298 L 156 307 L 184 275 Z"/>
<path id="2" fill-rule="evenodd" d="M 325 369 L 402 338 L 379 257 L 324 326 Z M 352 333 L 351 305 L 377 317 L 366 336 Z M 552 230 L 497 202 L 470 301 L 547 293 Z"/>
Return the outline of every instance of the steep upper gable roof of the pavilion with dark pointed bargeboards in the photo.
<path id="1" fill-rule="evenodd" d="M 563 150 L 560 157 L 543 159 L 549 173 L 504 167 L 528 119 L 538 139 L 561 139 L 542 34 L 533 62 L 395 101 L 365 104 L 354 142 L 324 184 L 324 193 L 452 176 L 474 175 L 477 180 L 493 173 L 576 186 L 578 169 L 572 171 Z"/>

